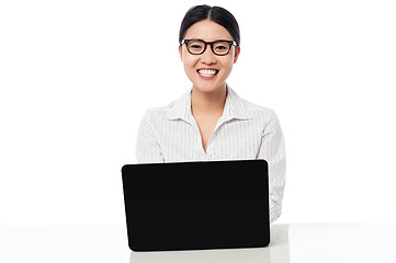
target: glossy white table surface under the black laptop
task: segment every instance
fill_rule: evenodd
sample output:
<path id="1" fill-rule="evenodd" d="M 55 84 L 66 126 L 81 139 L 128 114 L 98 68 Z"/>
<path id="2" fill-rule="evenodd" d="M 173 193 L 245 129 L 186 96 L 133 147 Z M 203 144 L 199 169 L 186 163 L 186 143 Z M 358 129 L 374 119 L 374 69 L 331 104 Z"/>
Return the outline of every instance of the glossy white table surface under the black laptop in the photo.
<path id="1" fill-rule="evenodd" d="M 132 252 L 118 226 L 0 226 L 0 262 L 396 262 L 396 224 L 280 224 L 267 248 Z"/>

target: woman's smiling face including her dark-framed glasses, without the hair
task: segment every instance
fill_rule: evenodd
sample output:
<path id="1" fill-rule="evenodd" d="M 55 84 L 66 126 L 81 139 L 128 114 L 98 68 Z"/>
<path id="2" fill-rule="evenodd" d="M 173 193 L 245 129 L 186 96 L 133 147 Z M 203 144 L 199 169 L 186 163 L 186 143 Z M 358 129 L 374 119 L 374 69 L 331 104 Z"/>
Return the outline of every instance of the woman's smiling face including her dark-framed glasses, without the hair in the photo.
<path id="1" fill-rule="evenodd" d="M 206 93 L 225 92 L 226 79 L 240 52 L 228 31 L 211 20 L 203 20 L 193 24 L 180 43 L 180 57 L 194 87 Z M 229 50 L 233 52 L 229 54 Z"/>

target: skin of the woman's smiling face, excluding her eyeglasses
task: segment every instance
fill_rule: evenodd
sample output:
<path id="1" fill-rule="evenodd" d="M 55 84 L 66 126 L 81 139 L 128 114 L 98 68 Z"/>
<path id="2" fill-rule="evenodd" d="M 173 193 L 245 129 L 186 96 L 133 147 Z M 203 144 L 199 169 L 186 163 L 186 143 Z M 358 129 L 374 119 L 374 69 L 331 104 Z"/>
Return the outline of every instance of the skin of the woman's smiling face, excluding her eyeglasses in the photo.
<path id="1" fill-rule="evenodd" d="M 205 42 L 234 41 L 225 27 L 210 20 L 203 20 L 190 26 L 184 39 L 192 38 Z M 233 45 L 227 55 L 217 56 L 212 52 L 211 45 L 207 45 L 203 54 L 192 55 L 183 44 L 179 47 L 179 53 L 184 71 L 193 83 L 193 88 L 202 92 L 215 92 L 218 89 L 225 89 L 226 79 L 238 59 L 240 48 Z M 206 71 L 203 71 L 204 69 Z M 212 72 L 216 73 L 212 76 Z"/>

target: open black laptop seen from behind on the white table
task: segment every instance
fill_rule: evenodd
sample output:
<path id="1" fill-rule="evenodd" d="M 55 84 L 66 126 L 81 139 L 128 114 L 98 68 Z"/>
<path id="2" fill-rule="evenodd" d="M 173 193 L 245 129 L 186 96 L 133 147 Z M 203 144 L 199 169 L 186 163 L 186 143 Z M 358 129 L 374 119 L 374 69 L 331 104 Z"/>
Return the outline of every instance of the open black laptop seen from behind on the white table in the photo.
<path id="1" fill-rule="evenodd" d="M 133 251 L 270 243 L 265 160 L 126 164 L 122 179 Z"/>

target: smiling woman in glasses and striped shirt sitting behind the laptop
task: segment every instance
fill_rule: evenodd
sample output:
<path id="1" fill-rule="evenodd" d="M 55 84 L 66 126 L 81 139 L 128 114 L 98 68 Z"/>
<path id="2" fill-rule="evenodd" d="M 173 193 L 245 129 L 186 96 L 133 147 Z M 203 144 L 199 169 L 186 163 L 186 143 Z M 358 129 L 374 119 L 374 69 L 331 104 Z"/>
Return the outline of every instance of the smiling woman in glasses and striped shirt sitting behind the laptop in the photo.
<path id="1" fill-rule="evenodd" d="M 273 111 L 239 98 L 226 83 L 240 53 L 239 26 L 219 7 L 191 8 L 180 27 L 179 53 L 192 88 L 142 119 L 139 163 L 264 159 L 269 163 L 270 221 L 281 215 L 285 151 Z"/>

